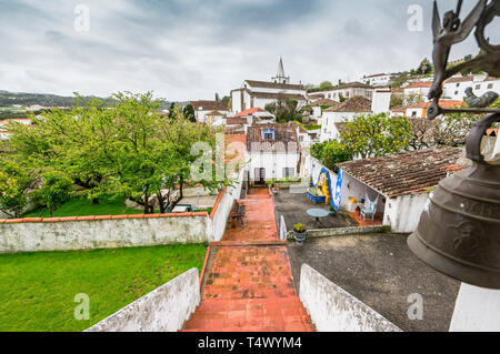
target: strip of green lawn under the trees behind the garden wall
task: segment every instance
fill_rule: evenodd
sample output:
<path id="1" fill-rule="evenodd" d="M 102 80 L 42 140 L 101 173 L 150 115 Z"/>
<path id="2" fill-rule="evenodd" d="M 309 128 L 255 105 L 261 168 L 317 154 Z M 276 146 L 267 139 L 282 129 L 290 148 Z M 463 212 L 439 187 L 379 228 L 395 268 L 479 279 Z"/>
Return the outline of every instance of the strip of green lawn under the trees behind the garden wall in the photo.
<path id="1" fill-rule="evenodd" d="M 59 208 L 54 218 L 62 216 L 90 216 L 90 215 L 121 215 L 121 214 L 141 214 L 141 210 L 124 206 L 123 198 L 100 198 L 99 204 L 92 204 L 87 198 L 70 200 Z M 48 210 L 36 210 L 23 215 L 23 218 L 50 218 Z"/>

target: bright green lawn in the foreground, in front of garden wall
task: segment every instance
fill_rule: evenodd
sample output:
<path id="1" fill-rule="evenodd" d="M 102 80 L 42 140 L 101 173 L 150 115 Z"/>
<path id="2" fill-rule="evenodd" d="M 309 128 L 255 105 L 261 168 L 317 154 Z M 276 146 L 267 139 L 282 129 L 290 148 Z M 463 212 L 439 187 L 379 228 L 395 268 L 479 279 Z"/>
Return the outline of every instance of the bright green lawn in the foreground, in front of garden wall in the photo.
<path id="1" fill-rule="evenodd" d="M 83 331 L 183 272 L 204 244 L 0 255 L 0 332 Z M 90 320 L 74 320 L 74 295 Z"/>

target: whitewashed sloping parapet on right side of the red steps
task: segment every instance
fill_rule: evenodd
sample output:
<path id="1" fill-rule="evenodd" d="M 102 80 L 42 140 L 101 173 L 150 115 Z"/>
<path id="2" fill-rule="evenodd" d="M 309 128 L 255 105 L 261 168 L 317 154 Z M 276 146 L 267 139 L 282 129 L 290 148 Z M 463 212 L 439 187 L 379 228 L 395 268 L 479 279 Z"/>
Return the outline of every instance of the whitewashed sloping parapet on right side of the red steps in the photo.
<path id="1" fill-rule="evenodd" d="M 307 264 L 300 272 L 299 295 L 319 332 L 401 331 Z"/>

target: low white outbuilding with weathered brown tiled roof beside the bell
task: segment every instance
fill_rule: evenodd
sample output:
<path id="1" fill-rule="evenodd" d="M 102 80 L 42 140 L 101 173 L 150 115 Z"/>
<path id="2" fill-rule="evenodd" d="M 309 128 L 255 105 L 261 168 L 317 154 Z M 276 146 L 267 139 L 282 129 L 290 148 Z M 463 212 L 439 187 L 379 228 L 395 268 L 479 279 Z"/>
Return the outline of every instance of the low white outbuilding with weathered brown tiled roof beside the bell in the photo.
<path id="1" fill-rule="evenodd" d="M 411 152 L 339 163 L 340 206 L 348 212 L 377 200 L 374 222 L 392 232 L 413 232 L 430 191 L 449 173 L 461 170 L 459 148 Z M 364 200 L 364 201 L 363 201 Z"/>

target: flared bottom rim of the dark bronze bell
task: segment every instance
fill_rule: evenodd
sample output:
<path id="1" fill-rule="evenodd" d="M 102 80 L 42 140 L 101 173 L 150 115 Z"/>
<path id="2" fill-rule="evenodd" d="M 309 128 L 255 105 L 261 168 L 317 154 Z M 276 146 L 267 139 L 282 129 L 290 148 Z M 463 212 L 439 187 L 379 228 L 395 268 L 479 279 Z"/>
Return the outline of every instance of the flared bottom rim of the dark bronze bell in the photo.
<path id="1" fill-rule="evenodd" d="M 486 289 L 500 289 L 500 273 L 474 269 L 436 252 L 421 241 L 418 231 L 407 240 L 410 251 L 423 263 L 459 282 Z"/>

